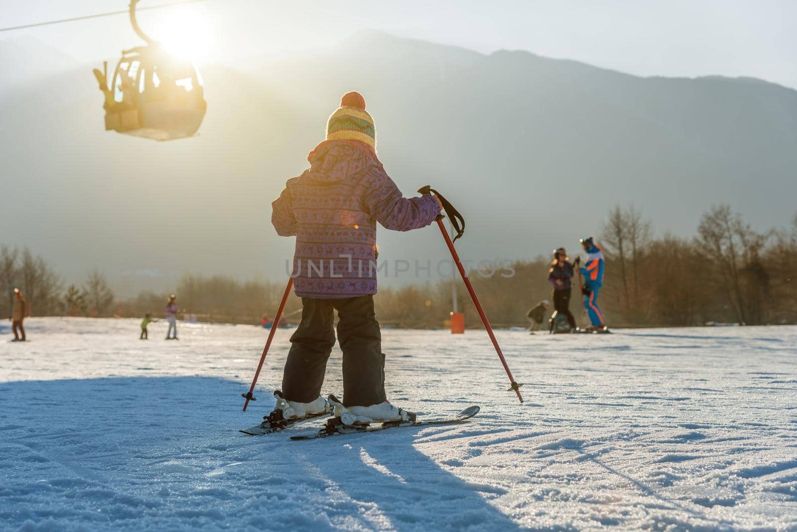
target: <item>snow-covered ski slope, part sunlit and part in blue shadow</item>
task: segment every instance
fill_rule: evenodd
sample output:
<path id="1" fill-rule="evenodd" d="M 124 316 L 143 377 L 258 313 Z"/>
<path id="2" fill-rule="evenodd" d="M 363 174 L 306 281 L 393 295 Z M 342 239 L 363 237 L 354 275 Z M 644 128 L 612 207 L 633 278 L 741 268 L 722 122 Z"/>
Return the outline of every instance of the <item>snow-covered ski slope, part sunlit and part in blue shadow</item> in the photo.
<path id="1" fill-rule="evenodd" d="M 387 390 L 468 424 L 292 442 L 278 331 L 30 319 L 0 343 L 0 530 L 795 530 L 797 327 L 384 331 Z M 6 325 L 0 338 L 9 339 Z M 325 393 L 340 393 L 340 351 Z"/>

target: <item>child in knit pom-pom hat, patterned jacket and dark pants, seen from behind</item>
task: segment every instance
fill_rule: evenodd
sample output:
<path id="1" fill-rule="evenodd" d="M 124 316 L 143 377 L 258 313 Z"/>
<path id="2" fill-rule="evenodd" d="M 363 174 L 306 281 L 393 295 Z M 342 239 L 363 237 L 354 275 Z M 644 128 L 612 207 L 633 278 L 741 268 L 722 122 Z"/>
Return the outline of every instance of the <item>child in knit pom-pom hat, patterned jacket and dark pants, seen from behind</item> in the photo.
<path id="1" fill-rule="evenodd" d="M 359 92 L 347 92 L 329 116 L 326 140 L 308 155 L 310 168 L 291 178 L 271 217 L 282 237 L 296 237 L 294 290 L 301 323 L 292 334 L 282 391 L 269 419 L 291 419 L 330 408 L 344 424 L 407 420 L 385 395 L 385 355 L 374 313 L 376 222 L 409 231 L 440 214 L 434 196 L 403 198 L 376 155 L 374 120 Z M 337 336 L 343 350 L 344 397 L 320 397 Z"/>

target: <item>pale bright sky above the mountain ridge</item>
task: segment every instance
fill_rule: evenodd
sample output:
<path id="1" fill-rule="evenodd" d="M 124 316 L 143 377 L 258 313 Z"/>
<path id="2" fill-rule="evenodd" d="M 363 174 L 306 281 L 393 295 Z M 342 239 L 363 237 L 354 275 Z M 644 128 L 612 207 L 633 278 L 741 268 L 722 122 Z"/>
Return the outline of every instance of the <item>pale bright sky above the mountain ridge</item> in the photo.
<path id="1" fill-rule="evenodd" d="M 154 6 L 171 0 L 142 0 Z M 0 27 L 124 9 L 128 0 L 0 0 Z M 461 45 L 526 49 L 638 75 L 755 76 L 797 88 L 797 2 L 572 0 L 569 2 L 274 2 L 206 0 L 151 10 L 152 37 L 193 45 L 200 63 L 316 48 L 358 29 Z M 124 15 L 0 33 L 33 35 L 80 62 L 113 60 L 137 44 Z"/>

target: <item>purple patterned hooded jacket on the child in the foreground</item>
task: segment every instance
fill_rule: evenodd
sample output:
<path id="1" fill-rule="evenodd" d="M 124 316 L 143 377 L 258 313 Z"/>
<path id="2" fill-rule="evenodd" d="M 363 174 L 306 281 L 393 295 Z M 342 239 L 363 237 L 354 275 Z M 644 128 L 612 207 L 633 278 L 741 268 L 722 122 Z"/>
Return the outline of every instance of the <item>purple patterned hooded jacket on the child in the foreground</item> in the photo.
<path id="1" fill-rule="evenodd" d="M 376 293 L 376 222 L 386 229 L 426 227 L 440 213 L 432 196 L 403 198 L 363 144 L 326 140 L 310 168 L 273 201 L 271 223 L 296 236 L 293 286 L 299 297 L 344 299 Z"/>

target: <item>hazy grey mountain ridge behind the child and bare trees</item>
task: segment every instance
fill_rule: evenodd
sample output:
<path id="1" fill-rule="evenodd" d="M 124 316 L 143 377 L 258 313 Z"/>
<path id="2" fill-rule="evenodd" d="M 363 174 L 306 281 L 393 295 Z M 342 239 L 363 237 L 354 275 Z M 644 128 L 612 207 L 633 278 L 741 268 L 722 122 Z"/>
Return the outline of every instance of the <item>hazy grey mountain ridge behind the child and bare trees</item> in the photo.
<path id="1" fill-rule="evenodd" d="M 20 199 L 0 216 L 26 223 L 6 243 L 52 250 L 68 279 L 93 266 L 280 279 L 292 240 L 273 233 L 270 201 L 304 170 L 327 116 L 354 89 L 402 191 L 432 184 L 468 218 L 462 256 L 572 247 L 599 233 L 614 204 L 634 202 L 658 231 L 681 236 L 722 201 L 760 228 L 794 213 L 793 89 L 363 35 L 301 61 L 204 68 L 200 134 L 172 143 L 103 131 L 90 68 L 12 87 L 0 155 L 3 188 Z M 431 229 L 380 230 L 379 242 L 387 259 L 446 259 Z M 92 248 L 103 252 L 87 265 Z"/>

